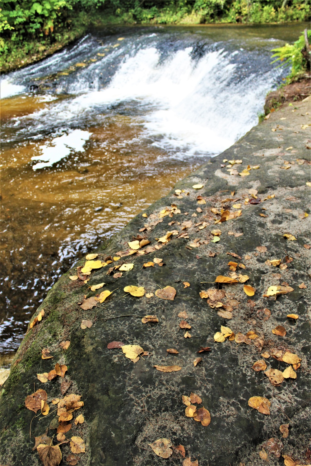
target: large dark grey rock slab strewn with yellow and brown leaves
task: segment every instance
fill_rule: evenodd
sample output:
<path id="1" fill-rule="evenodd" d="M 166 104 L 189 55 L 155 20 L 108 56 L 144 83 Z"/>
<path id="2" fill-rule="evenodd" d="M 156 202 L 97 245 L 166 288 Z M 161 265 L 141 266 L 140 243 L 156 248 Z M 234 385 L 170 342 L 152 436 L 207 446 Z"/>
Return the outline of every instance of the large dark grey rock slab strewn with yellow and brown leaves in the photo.
<path id="1" fill-rule="evenodd" d="M 45 442 L 46 464 L 310 464 L 310 97 L 295 105 L 49 291 L 1 387 L 1 465 L 41 464 Z"/>

